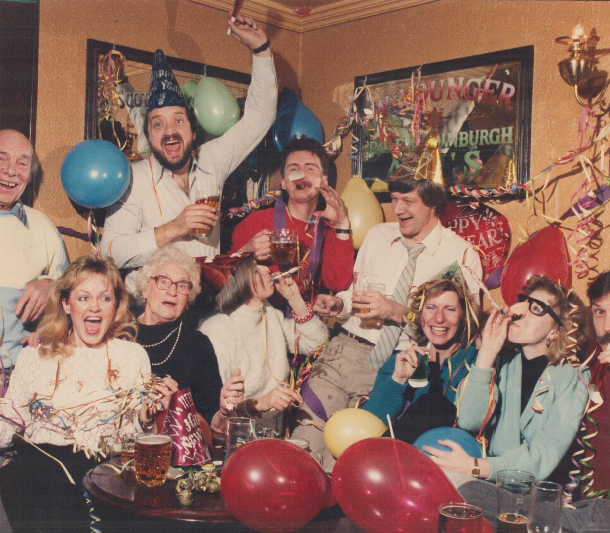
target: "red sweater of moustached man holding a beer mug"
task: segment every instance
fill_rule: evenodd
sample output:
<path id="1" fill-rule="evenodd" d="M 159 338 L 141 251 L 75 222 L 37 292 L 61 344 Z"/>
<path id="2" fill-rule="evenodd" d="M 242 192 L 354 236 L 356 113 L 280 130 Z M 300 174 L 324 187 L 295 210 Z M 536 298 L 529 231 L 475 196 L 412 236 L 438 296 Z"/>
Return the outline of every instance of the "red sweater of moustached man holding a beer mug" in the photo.
<path id="1" fill-rule="evenodd" d="M 254 237 L 259 231 L 268 229 L 273 231 L 273 215 L 274 207 L 260 209 L 251 212 L 244 220 L 242 220 L 233 232 L 233 239 L 230 252 L 236 252 L 243 245 Z M 299 253 L 303 258 L 309 251 L 313 241 L 313 225 L 301 220 L 292 220 L 287 216 L 286 225 L 289 229 L 295 229 L 299 239 Z M 322 249 L 321 268 L 314 277 L 315 291 L 313 297 L 318 293 L 325 292 L 324 288 L 333 292 L 339 292 L 350 287 L 352 274 L 354 271 L 354 243 L 351 238 L 340 240 L 337 238 L 332 224 L 328 220 L 321 219 L 320 229 L 324 231 L 324 247 Z M 300 271 L 300 279 L 298 279 L 301 288 L 301 294 L 305 301 L 312 298 L 309 288 L 307 288 L 306 279 L 309 274 L 309 254 L 304 261 L 305 266 Z M 266 263 L 272 271 L 277 271 L 278 266 L 273 265 L 270 261 Z"/>

